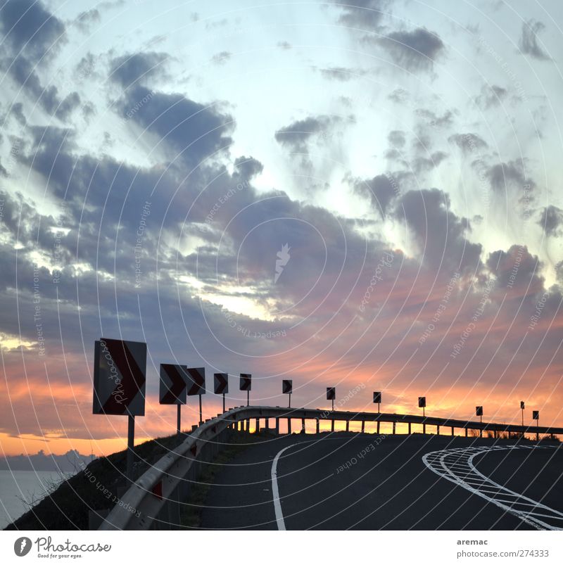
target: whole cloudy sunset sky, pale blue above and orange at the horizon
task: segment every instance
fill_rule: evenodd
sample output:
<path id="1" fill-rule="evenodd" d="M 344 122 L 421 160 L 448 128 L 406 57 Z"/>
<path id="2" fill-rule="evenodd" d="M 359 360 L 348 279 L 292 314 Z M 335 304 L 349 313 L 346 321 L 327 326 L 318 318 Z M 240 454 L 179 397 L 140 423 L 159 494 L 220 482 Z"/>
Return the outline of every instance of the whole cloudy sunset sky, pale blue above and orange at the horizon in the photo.
<path id="1" fill-rule="evenodd" d="M 251 402 L 563 425 L 563 6 L 0 6 L 0 455 L 122 449 L 94 341 L 147 344 L 137 440 Z M 244 399 L 246 400 L 246 399 Z M 198 419 L 189 398 L 184 426 Z"/>

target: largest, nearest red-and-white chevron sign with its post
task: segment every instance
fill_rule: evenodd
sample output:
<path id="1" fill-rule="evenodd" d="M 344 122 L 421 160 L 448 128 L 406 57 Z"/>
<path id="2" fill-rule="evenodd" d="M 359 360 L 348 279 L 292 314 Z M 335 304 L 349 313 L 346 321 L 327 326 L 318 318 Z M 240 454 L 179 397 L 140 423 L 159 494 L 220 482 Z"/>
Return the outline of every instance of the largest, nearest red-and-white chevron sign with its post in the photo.
<path id="1" fill-rule="evenodd" d="M 127 416 L 127 478 L 133 479 L 135 416 L 145 414 L 146 343 L 94 342 L 93 414 Z"/>

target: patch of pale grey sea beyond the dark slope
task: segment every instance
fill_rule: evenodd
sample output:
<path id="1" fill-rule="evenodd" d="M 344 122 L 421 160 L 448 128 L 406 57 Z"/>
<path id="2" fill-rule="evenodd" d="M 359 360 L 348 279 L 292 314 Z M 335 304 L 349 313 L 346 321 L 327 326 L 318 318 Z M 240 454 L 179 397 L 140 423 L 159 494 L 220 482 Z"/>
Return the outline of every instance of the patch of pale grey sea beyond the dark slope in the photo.
<path id="1" fill-rule="evenodd" d="M 56 471 L 0 471 L 0 530 L 27 512 L 21 498 L 32 502 L 62 478 Z"/>

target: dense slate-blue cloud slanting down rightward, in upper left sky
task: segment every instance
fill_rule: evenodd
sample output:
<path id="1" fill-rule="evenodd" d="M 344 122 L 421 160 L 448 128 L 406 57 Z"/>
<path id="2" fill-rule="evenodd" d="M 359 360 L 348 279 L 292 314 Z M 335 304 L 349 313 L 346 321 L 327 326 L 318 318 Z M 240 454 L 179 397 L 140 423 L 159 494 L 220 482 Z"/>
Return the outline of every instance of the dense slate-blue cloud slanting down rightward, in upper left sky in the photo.
<path id="1" fill-rule="evenodd" d="M 232 144 L 233 118 L 182 94 L 163 94 L 145 87 L 127 90 L 120 103 L 124 118 L 157 134 L 191 167 Z"/>

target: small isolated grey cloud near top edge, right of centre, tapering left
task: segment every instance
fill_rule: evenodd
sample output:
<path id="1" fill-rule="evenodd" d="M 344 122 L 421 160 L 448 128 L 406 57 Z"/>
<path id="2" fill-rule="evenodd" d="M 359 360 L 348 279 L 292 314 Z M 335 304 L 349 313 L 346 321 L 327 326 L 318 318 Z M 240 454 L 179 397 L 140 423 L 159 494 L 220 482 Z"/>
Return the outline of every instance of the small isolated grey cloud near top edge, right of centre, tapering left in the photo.
<path id="1" fill-rule="evenodd" d="M 366 37 L 365 41 L 379 44 L 396 65 L 411 72 L 432 70 L 436 59 L 445 52 L 438 34 L 424 27 L 411 32 L 393 32 L 379 39 Z"/>

